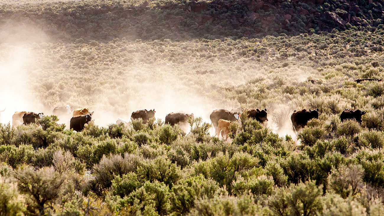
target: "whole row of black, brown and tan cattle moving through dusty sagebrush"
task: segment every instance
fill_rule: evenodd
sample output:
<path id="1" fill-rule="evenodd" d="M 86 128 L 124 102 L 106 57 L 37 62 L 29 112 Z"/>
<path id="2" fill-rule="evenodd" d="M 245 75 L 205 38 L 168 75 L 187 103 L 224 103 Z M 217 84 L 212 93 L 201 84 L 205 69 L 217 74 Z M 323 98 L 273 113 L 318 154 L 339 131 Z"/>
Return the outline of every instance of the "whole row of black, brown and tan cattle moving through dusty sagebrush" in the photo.
<path id="1" fill-rule="evenodd" d="M 3 110 L 5 111 L 5 109 Z M 1 112 L 0 111 L 0 114 Z M 72 118 L 70 119 L 70 129 L 73 129 L 74 131 L 80 132 L 84 129 L 85 124 L 93 123 L 92 115 L 94 112 L 89 112 L 87 108 L 79 108 L 74 109 L 73 106 L 61 106 L 61 107 L 55 107 L 52 111 L 53 115 L 58 116 L 59 118 L 63 117 L 66 118 L 68 115 L 72 115 Z M 150 118 L 155 117 L 155 109 L 153 110 L 137 110 L 132 112 L 131 119 L 139 119 L 141 118 L 143 123 L 147 123 L 147 121 Z M 246 113 L 247 117 L 253 120 L 257 120 L 260 123 L 264 123 L 265 121 L 268 121 L 267 118 L 267 110 L 264 108 L 263 110 L 259 109 L 243 109 L 243 108 L 235 108 L 231 111 L 220 109 L 220 110 L 214 110 L 210 114 L 209 118 L 212 122 L 212 126 L 215 129 L 215 136 L 220 137 L 225 140 L 228 139 L 228 133 L 230 132 L 230 126 L 238 122 L 240 123 L 240 115 L 242 113 Z M 356 120 L 359 123 L 362 123 L 361 116 L 366 114 L 366 111 L 360 111 L 360 110 L 351 110 L 351 109 L 345 109 L 340 114 L 340 120 L 343 122 L 345 120 Z M 34 113 L 34 112 L 15 112 L 12 116 L 12 125 L 28 125 L 30 123 L 37 123 L 36 119 L 40 119 L 43 117 L 43 113 Z M 165 117 L 165 124 L 169 124 L 170 126 L 174 125 L 182 125 L 188 123 L 189 118 L 194 118 L 194 114 L 184 114 L 184 113 L 169 113 Z M 296 133 L 300 132 L 308 123 L 309 120 L 316 118 L 319 118 L 319 109 L 316 108 L 315 110 L 295 110 L 293 111 L 291 115 L 291 121 L 293 126 L 293 131 Z M 129 125 L 127 121 L 119 118 L 116 121 L 116 124 L 125 124 Z"/>

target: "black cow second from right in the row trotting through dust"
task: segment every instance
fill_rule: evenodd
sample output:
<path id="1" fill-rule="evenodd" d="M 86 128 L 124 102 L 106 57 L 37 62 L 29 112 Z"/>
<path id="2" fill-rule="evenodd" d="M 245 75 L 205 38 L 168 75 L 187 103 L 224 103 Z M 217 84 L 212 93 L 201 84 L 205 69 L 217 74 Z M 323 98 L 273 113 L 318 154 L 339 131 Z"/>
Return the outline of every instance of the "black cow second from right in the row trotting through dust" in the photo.
<path id="1" fill-rule="evenodd" d="M 299 130 L 303 129 L 309 120 L 316 118 L 319 119 L 319 109 L 316 110 L 298 110 L 293 111 L 291 115 L 293 131 L 297 134 Z"/>

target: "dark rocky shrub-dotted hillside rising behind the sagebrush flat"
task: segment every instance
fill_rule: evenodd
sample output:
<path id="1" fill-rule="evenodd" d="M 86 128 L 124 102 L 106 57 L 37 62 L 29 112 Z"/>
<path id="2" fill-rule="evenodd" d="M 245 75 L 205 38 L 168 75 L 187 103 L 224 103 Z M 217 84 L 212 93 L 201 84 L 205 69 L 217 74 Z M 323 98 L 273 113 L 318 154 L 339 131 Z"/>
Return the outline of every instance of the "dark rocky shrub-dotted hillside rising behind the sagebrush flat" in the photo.
<path id="1" fill-rule="evenodd" d="M 381 28 L 383 4 L 372 0 L 2 0 L 0 25 L 38 26 L 52 40 L 64 42 L 261 38 L 333 29 L 374 31 Z"/>

